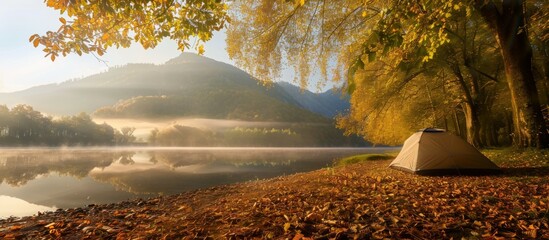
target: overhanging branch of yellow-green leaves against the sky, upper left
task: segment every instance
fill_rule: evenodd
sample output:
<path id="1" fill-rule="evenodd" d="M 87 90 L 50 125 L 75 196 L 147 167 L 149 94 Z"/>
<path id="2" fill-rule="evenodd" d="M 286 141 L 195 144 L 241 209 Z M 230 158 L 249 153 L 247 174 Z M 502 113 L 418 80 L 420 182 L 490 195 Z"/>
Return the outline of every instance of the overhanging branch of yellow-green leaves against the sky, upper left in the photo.
<path id="1" fill-rule="evenodd" d="M 195 47 L 199 53 L 213 32 L 222 29 L 228 17 L 220 0 L 45 0 L 58 10 L 61 26 L 29 41 L 43 46 L 52 61 L 70 53 L 103 55 L 111 47 L 129 47 L 132 42 L 145 49 L 162 39 L 177 42 L 179 49 Z M 197 41 L 194 45 L 192 41 Z"/>

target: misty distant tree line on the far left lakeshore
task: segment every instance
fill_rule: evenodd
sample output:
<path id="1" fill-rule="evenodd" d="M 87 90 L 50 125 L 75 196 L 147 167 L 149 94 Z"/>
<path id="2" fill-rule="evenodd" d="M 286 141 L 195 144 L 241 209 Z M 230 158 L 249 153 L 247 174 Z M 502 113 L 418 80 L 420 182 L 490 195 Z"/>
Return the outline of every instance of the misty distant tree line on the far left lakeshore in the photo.
<path id="1" fill-rule="evenodd" d="M 0 146 L 121 145 L 135 141 L 134 130 L 97 124 L 86 113 L 53 119 L 28 105 L 0 105 Z"/>

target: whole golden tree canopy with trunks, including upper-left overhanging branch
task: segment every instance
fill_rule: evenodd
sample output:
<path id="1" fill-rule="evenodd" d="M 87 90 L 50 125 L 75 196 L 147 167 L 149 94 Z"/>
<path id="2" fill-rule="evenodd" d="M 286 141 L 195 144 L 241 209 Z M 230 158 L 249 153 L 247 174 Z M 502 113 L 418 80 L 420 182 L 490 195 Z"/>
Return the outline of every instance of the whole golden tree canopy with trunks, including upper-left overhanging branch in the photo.
<path id="1" fill-rule="evenodd" d="M 52 60 L 101 55 L 132 41 L 154 47 L 165 37 L 183 49 L 193 37 L 207 41 L 231 19 L 228 53 L 258 79 L 272 81 L 291 66 L 302 87 L 316 72 L 320 84 L 343 82 L 352 106 L 339 123 L 348 133 L 395 143 L 418 126 L 440 126 L 477 146 L 549 146 L 545 1 L 46 3 L 64 14 L 61 27 L 30 41 Z M 380 132 L 395 124 L 400 134 Z"/>

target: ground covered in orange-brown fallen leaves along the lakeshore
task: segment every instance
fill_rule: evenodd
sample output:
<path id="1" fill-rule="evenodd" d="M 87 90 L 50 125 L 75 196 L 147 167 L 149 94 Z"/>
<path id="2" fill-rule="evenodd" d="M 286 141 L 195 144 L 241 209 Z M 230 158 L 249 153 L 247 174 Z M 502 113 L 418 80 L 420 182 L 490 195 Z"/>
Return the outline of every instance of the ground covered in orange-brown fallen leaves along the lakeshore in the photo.
<path id="1" fill-rule="evenodd" d="M 368 161 L 3 220 L 0 238 L 549 239 L 547 153 L 486 154 L 503 174 L 425 177 Z"/>

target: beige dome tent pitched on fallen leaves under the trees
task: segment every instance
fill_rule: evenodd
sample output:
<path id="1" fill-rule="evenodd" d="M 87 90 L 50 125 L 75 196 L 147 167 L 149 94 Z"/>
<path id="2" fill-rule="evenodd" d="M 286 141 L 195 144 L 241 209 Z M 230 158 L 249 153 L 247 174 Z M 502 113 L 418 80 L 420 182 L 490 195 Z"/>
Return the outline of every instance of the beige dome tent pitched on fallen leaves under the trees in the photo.
<path id="1" fill-rule="evenodd" d="M 404 142 L 389 167 L 422 175 L 486 174 L 499 167 L 463 139 L 442 129 L 426 128 Z"/>

